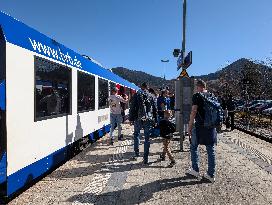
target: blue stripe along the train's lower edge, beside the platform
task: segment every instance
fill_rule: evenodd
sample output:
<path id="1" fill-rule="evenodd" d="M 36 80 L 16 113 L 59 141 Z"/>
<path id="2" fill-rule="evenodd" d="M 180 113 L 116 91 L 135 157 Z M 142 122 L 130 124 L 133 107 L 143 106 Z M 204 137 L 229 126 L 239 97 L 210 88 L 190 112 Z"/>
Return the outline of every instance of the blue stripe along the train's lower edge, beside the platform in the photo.
<path id="1" fill-rule="evenodd" d="M 109 129 L 109 125 L 104 126 L 102 129 L 95 131 L 88 135 L 91 142 L 95 141 L 95 135 L 103 133 L 103 135 Z M 31 181 L 37 179 L 38 177 L 45 174 L 47 171 L 56 168 L 59 164 L 67 161 L 69 159 L 69 151 L 75 145 L 68 145 L 58 151 L 40 159 L 37 162 L 34 162 L 27 167 L 20 169 L 14 174 L 7 177 L 7 196 L 14 194 L 19 189 L 28 185 Z"/>

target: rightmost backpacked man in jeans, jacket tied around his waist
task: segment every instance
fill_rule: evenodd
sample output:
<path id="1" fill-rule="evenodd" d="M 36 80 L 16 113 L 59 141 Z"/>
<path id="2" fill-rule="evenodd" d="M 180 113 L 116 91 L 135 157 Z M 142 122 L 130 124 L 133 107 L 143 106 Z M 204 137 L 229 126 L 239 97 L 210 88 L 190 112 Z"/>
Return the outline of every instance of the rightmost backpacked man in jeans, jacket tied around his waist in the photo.
<path id="1" fill-rule="evenodd" d="M 187 171 L 187 174 L 200 177 L 198 145 L 205 145 L 208 154 L 208 171 L 203 177 L 214 182 L 216 127 L 223 121 L 223 111 L 214 95 L 206 90 L 206 83 L 203 80 L 197 81 L 196 89 L 197 93 L 192 99 L 193 106 L 188 130 L 192 168 Z"/>

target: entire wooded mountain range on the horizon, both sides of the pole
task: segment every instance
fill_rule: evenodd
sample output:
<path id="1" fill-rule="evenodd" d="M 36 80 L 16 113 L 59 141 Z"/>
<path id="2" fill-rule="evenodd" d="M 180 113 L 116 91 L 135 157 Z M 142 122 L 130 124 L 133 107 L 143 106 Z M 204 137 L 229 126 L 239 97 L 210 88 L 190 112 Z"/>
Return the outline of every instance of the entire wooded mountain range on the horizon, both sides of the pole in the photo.
<path id="1" fill-rule="evenodd" d="M 165 80 L 147 74 L 142 71 L 129 70 L 123 67 L 111 69 L 113 73 L 140 86 L 148 82 L 155 90 L 168 86 L 174 90 L 174 80 Z M 203 79 L 207 82 L 209 90 L 218 92 L 221 95 L 233 94 L 236 97 L 272 99 L 272 69 L 260 62 L 241 58 L 225 68 L 208 75 L 196 76 L 196 79 Z M 248 85 L 246 85 L 246 82 Z"/>

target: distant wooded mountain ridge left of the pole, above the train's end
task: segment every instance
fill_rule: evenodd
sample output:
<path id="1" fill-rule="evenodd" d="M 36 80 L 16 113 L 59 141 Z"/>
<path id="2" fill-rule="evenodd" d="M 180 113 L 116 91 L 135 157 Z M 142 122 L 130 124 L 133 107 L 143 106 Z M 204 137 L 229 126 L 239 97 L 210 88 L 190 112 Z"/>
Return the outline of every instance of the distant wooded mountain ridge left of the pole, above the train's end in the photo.
<path id="1" fill-rule="evenodd" d="M 173 80 L 165 80 L 142 71 L 129 70 L 123 67 L 112 68 L 111 71 L 137 86 L 140 86 L 143 82 L 147 82 L 149 86 L 155 90 L 166 86 L 168 86 L 170 90 L 174 90 Z"/>

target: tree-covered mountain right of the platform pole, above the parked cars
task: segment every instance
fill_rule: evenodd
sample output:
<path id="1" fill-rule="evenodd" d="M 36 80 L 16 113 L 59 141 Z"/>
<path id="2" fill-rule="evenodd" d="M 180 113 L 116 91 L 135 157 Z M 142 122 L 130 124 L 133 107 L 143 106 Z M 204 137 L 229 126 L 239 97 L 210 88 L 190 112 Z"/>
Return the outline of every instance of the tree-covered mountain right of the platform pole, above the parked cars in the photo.
<path id="1" fill-rule="evenodd" d="M 257 61 L 241 58 L 222 70 L 197 76 L 214 92 L 237 97 L 272 99 L 272 69 Z"/>

